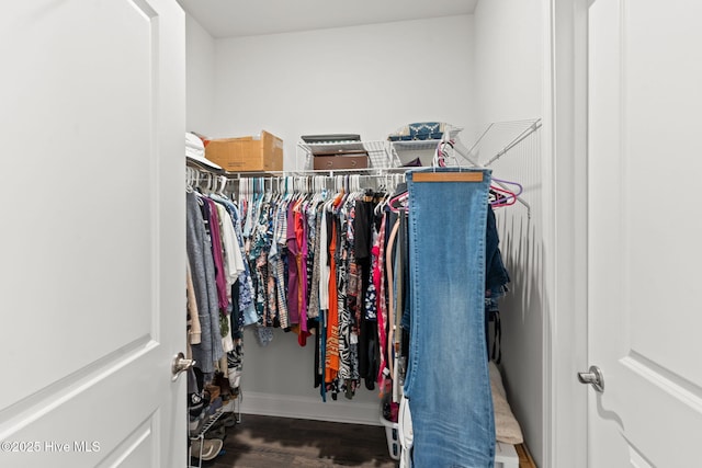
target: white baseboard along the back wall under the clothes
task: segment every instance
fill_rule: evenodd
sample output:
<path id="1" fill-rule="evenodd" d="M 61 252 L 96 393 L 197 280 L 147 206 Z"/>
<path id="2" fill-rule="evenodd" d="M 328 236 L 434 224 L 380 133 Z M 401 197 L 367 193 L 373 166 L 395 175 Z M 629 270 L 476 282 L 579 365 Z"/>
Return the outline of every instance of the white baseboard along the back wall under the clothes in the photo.
<path id="1" fill-rule="evenodd" d="M 241 412 L 279 418 L 298 418 L 351 424 L 381 425 L 380 404 L 348 401 L 339 396 L 327 402 L 319 398 L 291 397 L 288 395 L 242 392 Z"/>

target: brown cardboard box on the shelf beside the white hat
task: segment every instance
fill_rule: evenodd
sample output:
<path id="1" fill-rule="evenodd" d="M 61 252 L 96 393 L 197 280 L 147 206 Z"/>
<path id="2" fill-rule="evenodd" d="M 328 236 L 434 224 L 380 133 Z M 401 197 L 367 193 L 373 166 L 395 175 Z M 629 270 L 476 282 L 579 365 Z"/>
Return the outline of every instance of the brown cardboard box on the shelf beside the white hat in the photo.
<path id="1" fill-rule="evenodd" d="M 260 137 L 213 139 L 205 146 L 205 158 L 227 172 L 283 170 L 283 140 L 265 130 Z"/>

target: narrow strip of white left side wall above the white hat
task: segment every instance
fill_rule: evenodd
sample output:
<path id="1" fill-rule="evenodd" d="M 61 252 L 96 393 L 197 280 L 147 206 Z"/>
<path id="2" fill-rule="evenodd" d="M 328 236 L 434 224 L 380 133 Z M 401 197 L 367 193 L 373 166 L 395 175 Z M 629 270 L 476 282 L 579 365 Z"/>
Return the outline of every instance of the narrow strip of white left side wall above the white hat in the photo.
<path id="1" fill-rule="evenodd" d="M 215 102 L 215 39 L 190 14 L 185 15 L 186 129 L 207 135 Z"/>

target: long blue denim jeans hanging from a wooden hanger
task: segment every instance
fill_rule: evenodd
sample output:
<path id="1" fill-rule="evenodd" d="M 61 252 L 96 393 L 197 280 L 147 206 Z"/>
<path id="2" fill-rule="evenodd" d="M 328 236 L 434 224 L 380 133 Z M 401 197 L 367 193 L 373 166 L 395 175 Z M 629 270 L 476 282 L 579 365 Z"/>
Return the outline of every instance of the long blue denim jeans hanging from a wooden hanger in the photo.
<path id="1" fill-rule="evenodd" d="M 462 170 L 478 182 L 418 181 L 430 172 L 451 176 L 458 169 L 407 175 L 411 324 L 404 390 L 412 466 L 491 468 L 495 420 L 485 347 L 491 171 Z"/>

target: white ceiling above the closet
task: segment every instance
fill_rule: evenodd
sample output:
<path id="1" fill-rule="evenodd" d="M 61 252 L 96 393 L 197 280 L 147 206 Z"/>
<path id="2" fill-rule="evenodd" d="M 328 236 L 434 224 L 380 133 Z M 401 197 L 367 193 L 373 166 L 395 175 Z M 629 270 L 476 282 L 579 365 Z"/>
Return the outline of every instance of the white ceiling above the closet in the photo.
<path id="1" fill-rule="evenodd" d="M 478 0 L 178 0 L 214 37 L 472 14 Z"/>

